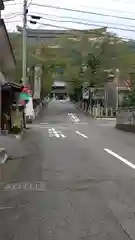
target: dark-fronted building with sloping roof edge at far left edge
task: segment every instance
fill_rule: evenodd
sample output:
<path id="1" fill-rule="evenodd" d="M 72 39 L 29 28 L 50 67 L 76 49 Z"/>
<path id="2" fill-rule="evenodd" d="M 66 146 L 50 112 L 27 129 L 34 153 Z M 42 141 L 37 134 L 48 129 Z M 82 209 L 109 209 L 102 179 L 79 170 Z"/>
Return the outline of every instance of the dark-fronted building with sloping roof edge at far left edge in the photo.
<path id="1" fill-rule="evenodd" d="M 16 87 L 8 83 L 11 78 L 10 71 L 15 70 L 16 62 L 5 27 L 4 20 L 0 18 L 0 128 L 11 131 L 11 111 L 13 92 Z M 12 86 L 11 86 L 12 85 Z"/>

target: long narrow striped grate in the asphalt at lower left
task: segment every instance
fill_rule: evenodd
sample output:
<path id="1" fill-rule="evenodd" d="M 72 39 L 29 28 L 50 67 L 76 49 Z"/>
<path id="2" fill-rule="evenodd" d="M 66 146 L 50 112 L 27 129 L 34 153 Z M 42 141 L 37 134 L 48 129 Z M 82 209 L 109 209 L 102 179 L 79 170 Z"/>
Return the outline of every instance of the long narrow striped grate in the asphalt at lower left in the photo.
<path id="1" fill-rule="evenodd" d="M 19 182 L 8 184 L 4 190 L 44 191 L 45 187 L 44 182 Z"/>

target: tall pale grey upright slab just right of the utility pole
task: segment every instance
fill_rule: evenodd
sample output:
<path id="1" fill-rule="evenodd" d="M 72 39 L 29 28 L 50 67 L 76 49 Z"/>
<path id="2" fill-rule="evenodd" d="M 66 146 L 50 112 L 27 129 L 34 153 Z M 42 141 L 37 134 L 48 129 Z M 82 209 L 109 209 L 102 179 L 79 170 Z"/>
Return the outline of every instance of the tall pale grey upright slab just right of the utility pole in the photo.
<path id="1" fill-rule="evenodd" d="M 33 99 L 40 99 L 41 74 L 42 74 L 41 67 L 40 66 L 35 66 Z"/>

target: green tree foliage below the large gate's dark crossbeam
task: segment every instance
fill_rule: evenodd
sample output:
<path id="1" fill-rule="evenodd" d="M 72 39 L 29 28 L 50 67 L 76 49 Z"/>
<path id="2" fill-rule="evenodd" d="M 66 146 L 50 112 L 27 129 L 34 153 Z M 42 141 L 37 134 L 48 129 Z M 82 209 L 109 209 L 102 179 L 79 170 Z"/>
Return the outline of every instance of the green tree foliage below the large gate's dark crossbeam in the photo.
<path id="1" fill-rule="evenodd" d="M 21 35 L 10 36 L 17 61 L 14 77 L 21 79 L 22 51 Z M 42 92 L 51 90 L 53 80 L 58 77 L 70 84 L 70 88 L 80 88 L 83 82 L 90 86 L 102 86 L 107 81 L 107 71 L 115 74 L 120 69 L 120 78 L 127 79 L 134 71 L 135 43 L 124 41 L 106 28 L 67 31 L 55 39 L 53 46 L 45 43 L 27 45 L 27 65 L 42 66 Z"/>

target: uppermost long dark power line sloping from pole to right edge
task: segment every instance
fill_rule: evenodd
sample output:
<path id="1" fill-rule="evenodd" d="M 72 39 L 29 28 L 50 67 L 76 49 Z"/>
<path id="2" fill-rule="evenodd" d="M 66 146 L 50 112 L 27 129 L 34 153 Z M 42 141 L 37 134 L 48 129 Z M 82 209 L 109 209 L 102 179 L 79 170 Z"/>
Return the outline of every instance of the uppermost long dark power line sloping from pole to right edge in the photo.
<path id="1" fill-rule="evenodd" d="M 104 13 L 94 13 L 94 12 L 83 11 L 83 10 L 79 10 L 79 9 L 64 8 L 64 7 L 52 6 L 52 5 L 42 5 L 42 4 L 37 4 L 37 3 L 32 3 L 32 5 L 33 6 L 38 6 L 38 7 L 45 7 L 45 8 L 53 8 L 53 9 L 58 9 L 58 10 L 70 11 L 70 12 L 77 12 L 77 13 L 84 13 L 84 14 L 91 14 L 91 15 L 98 15 L 98 16 L 104 16 L 104 17 L 112 17 L 112 18 L 135 21 L 135 18 L 122 17 L 122 16 L 117 16 L 117 15 L 109 15 L 109 14 L 104 14 Z"/>

